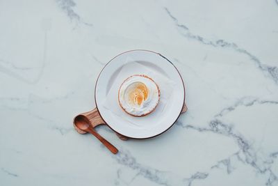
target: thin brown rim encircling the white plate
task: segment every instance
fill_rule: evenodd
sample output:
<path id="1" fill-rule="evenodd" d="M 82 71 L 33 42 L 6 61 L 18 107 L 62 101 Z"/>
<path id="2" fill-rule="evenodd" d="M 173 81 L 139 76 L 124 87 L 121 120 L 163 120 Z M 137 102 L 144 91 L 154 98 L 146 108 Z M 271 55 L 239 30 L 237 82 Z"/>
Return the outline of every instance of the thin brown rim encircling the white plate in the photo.
<path id="1" fill-rule="evenodd" d="M 176 66 L 175 66 L 169 59 L 167 59 L 165 56 L 159 54 L 158 52 L 153 52 L 153 51 L 147 50 L 147 49 L 131 49 L 131 50 L 128 50 L 128 51 L 126 51 L 126 52 L 122 52 L 121 54 L 117 54 L 117 56 L 120 56 L 120 55 L 125 54 L 125 53 L 127 53 L 127 52 L 133 52 L 133 51 L 145 51 L 145 52 L 152 52 L 152 53 L 154 53 L 154 54 L 158 54 L 159 56 L 161 56 L 161 57 L 163 57 L 164 59 L 166 59 L 167 61 L 169 61 L 169 63 L 171 63 L 171 64 L 174 66 L 174 68 L 176 68 Z M 117 56 L 113 57 L 113 59 L 115 59 Z M 111 59 L 108 63 L 110 63 L 111 61 L 113 61 L 113 59 Z M 106 65 L 108 65 L 108 63 L 106 63 Z M 104 65 L 104 68 L 106 68 L 106 65 Z M 102 68 L 101 72 L 104 70 L 104 68 Z M 181 73 L 179 72 L 179 70 L 178 70 L 177 68 L 176 68 L 176 70 L 177 70 L 177 72 L 179 73 L 179 77 L 181 77 Z M 99 72 L 99 75 L 101 74 L 101 72 Z M 98 81 L 98 80 L 99 80 L 99 76 L 97 77 L 97 81 Z M 96 84 L 95 84 L 95 95 L 96 95 L 97 81 L 96 81 Z M 183 82 L 182 77 L 181 77 L 181 82 L 182 82 L 182 84 L 183 84 L 183 92 L 184 92 L 184 94 L 183 94 L 183 95 L 184 95 L 184 96 L 183 96 L 183 104 L 184 104 L 184 102 L 185 102 L 185 100 L 186 100 L 186 88 L 185 88 L 185 86 L 184 86 L 184 82 Z M 96 104 L 96 107 L 97 107 L 96 96 L 95 96 L 95 104 Z M 182 107 L 181 107 L 181 111 L 182 111 L 182 109 L 183 109 L 183 105 L 182 105 Z M 97 110 L 99 111 L 98 108 L 97 108 Z M 181 111 L 179 112 L 179 116 L 181 115 Z M 100 112 L 99 112 L 99 116 L 100 116 L 100 117 L 102 118 L 102 120 L 106 123 L 106 125 L 108 125 L 108 127 L 110 127 L 111 130 L 113 130 L 113 128 L 112 128 L 112 127 L 104 120 L 104 118 L 101 116 L 101 113 L 100 113 Z M 178 120 L 179 116 L 178 116 L 177 119 L 174 121 L 174 123 L 176 123 L 176 121 Z M 172 125 L 170 125 L 170 127 L 172 127 L 172 126 L 174 125 L 174 123 L 172 123 Z M 156 135 L 154 135 L 154 136 L 152 136 L 152 137 L 145 137 L 145 138 L 129 137 L 129 136 L 126 136 L 126 135 L 124 135 L 124 134 L 121 134 L 120 132 L 117 132 L 117 131 L 115 131 L 115 130 L 113 130 L 113 131 L 116 132 L 116 133 L 118 133 L 118 134 L 121 134 L 121 135 L 124 136 L 124 137 L 128 137 L 128 138 L 130 138 L 130 139 L 150 139 L 150 138 L 153 138 L 153 137 L 157 137 L 157 136 L 159 136 L 160 134 L 163 134 L 164 132 L 166 132 L 167 130 L 169 130 L 170 127 L 168 127 L 166 130 L 164 130 L 163 132 L 161 132 L 161 133 L 159 133 L 159 134 L 156 134 Z"/>

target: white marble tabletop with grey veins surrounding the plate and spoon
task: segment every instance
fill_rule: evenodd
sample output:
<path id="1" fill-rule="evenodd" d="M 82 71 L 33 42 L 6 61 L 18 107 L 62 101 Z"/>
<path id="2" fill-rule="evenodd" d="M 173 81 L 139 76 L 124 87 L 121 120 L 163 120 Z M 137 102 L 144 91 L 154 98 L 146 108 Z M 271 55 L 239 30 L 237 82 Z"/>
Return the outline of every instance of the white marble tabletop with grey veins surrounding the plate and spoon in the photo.
<path id="1" fill-rule="evenodd" d="M 0 185 L 278 185 L 278 2 L 0 1 Z M 150 49 L 188 112 L 154 139 L 72 118 L 113 56 Z"/>

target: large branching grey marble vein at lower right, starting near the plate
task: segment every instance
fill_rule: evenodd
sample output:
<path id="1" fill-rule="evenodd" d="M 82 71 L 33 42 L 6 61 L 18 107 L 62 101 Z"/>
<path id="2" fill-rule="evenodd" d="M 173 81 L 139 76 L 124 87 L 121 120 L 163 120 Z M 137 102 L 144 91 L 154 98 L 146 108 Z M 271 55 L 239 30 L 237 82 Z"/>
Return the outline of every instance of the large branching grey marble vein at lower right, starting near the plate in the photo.
<path id="1" fill-rule="evenodd" d="M 236 157 L 240 162 L 243 164 L 249 164 L 252 166 L 257 172 L 259 173 L 269 173 L 269 178 L 267 183 L 265 185 L 272 185 L 272 183 L 278 181 L 277 175 L 273 173 L 271 165 L 274 163 L 275 158 L 278 156 L 278 152 L 271 153 L 269 155 L 270 160 L 268 162 L 264 162 L 263 160 L 260 160 L 257 157 L 256 150 L 252 147 L 252 142 L 247 141 L 245 137 L 243 137 L 242 134 L 237 132 L 233 125 L 223 123 L 220 121 L 220 117 L 224 116 L 224 114 L 229 113 L 230 111 L 234 111 L 239 106 L 244 107 L 252 107 L 254 104 L 278 104 L 278 101 L 275 100 L 259 100 L 259 98 L 252 98 L 252 97 L 243 97 L 240 100 L 238 100 L 235 104 L 232 106 L 226 107 L 222 109 L 218 114 L 215 114 L 215 118 L 213 118 L 209 123 L 208 127 L 197 127 L 194 125 L 184 125 L 180 121 L 176 122 L 176 125 L 190 129 L 190 130 L 197 130 L 198 132 L 213 132 L 215 134 L 222 134 L 227 137 L 233 138 L 236 143 L 238 144 L 238 147 L 240 148 L 240 151 L 235 153 Z M 245 156 L 245 159 L 242 159 L 239 156 L 239 153 L 243 153 Z M 232 155 L 232 156 L 234 156 Z M 232 157 L 231 156 L 231 157 Z M 230 158 L 227 157 L 227 159 L 221 160 L 218 162 L 218 164 L 215 164 L 211 168 L 218 168 L 220 164 L 224 164 L 227 166 L 227 173 L 231 173 L 233 171 L 233 166 L 231 166 Z"/>

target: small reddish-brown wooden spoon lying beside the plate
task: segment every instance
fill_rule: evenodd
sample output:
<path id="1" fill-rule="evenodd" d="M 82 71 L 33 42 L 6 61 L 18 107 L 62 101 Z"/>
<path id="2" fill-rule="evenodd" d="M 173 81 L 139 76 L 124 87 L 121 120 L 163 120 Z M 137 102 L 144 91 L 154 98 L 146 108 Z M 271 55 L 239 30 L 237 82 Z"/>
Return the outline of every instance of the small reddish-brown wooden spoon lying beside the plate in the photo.
<path id="1" fill-rule="evenodd" d="M 101 141 L 101 143 L 104 144 L 104 146 L 106 146 L 113 154 L 116 154 L 118 152 L 118 150 L 117 150 L 117 148 L 115 148 L 115 146 L 110 144 L 108 141 L 106 141 L 106 139 L 101 137 L 101 135 L 99 135 L 99 133 L 97 133 L 95 131 L 95 129 L 90 125 L 90 121 L 85 116 L 83 116 L 83 115 L 76 116 L 76 118 L 74 118 L 74 124 L 80 130 L 90 132 L 95 137 L 97 137 L 97 139 L 99 139 L 99 141 Z"/>

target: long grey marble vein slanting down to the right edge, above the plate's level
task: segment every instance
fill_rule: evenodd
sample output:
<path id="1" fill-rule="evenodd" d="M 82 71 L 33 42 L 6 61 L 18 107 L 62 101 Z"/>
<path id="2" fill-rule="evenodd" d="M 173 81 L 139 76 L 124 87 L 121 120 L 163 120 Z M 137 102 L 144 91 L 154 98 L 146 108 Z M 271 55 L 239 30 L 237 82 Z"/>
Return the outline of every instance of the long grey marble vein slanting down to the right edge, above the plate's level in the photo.
<path id="1" fill-rule="evenodd" d="M 261 70 L 265 75 L 270 77 L 273 81 L 275 81 L 276 84 L 278 84 L 278 68 L 277 66 L 271 66 L 263 64 L 258 57 L 254 56 L 251 52 L 248 52 L 246 49 L 243 49 L 241 47 L 238 47 L 236 43 L 234 42 L 227 42 L 226 40 L 218 39 L 218 40 L 209 40 L 207 38 L 204 38 L 202 36 L 199 36 L 197 34 L 194 34 L 188 29 L 188 26 L 184 24 L 179 24 L 179 21 L 177 20 L 174 15 L 168 10 L 167 8 L 164 8 L 167 15 L 174 21 L 174 24 L 179 28 L 179 33 L 181 33 L 182 36 L 186 38 L 190 38 L 192 40 L 197 40 L 198 42 L 201 42 L 204 45 L 210 45 L 212 47 L 221 47 L 221 48 L 229 48 L 234 49 L 234 51 L 239 52 L 241 54 L 245 54 L 250 58 L 250 60 L 254 61 L 256 63 L 256 66 Z"/>

